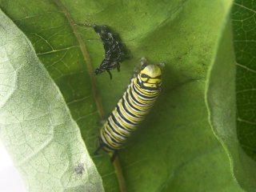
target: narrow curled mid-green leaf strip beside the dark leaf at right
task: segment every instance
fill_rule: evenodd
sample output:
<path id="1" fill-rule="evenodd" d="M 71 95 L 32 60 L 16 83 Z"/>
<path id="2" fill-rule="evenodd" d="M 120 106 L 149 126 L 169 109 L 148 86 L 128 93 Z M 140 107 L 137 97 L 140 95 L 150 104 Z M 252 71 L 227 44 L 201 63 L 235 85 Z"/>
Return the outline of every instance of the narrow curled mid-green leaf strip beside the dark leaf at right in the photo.
<path id="1" fill-rule="evenodd" d="M 238 160 L 239 145 L 235 130 L 235 65 L 230 26 L 230 22 L 227 22 L 223 29 L 216 59 L 209 71 L 206 102 L 214 133 L 227 152 L 233 155 L 230 162 L 234 166 L 234 161 Z"/>

